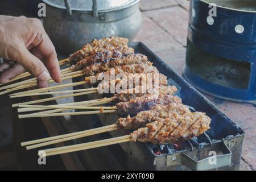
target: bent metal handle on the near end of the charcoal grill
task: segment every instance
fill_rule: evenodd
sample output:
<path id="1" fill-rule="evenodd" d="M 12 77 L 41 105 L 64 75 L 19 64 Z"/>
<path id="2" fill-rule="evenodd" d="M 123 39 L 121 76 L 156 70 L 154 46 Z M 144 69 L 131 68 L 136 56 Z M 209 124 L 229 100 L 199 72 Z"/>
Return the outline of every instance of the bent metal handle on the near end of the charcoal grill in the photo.
<path id="1" fill-rule="evenodd" d="M 183 164 L 193 171 L 207 171 L 210 169 L 229 166 L 231 164 L 232 152 L 224 142 L 217 145 L 218 150 L 220 150 L 222 153 L 221 155 L 209 156 L 208 158 L 202 160 L 196 160 L 185 153 L 174 154 L 167 156 L 167 166 Z M 214 151 L 214 149 L 209 151 Z"/>

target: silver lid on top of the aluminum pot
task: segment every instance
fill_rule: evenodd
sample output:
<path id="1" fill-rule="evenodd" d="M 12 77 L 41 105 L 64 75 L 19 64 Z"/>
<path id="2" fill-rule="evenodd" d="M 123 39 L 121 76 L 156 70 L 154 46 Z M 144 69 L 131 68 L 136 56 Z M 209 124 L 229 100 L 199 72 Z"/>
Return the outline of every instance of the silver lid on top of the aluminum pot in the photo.
<path id="1" fill-rule="evenodd" d="M 95 0 L 94 0 L 95 1 Z M 115 9 L 122 9 L 139 0 L 96 0 L 98 11 L 110 11 Z M 64 0 L 43 0 L 49 6 L 66 9 Z M 68 0 L 72 10 L 77 11 L 92 11 L 93 0 Z"/>

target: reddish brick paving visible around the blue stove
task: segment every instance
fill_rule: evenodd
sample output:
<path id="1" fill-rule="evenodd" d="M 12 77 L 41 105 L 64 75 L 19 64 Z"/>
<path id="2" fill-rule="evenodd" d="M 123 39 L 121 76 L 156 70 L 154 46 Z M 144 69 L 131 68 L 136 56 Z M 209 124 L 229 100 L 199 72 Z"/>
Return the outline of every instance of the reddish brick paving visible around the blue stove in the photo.
<path id="1" fill-rule="evenodd" d="M 146 44 L 181 75 L 185 64 L 189 1 L 141 0 L 143 26 L 135 41 Z M 256 168 L 256 107 L 205 95 L 245 130 L 241 170 Z"/>

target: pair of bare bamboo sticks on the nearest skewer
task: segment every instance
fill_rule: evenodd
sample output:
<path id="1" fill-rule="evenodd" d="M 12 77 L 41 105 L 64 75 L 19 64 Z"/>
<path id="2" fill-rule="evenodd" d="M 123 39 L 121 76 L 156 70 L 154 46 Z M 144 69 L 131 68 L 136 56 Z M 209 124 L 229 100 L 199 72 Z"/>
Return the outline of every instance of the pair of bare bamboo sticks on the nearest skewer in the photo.
<path id="1" fill-rule="evenodd" d="M 88 142 L 88 143 L 76 144 L 73 146 L 65 146 L 65 147 L 41 150 L 41 151 L 39 151 L 39 154 L 46 154 L 46 156 L 52 156 L 52 155 L 65 154 L 65 153 L 69 153 L 69 152 L 77 152 L 77 151 L 81 151 L 81 150 L 88 150 L 90 148 L 109 146 L 112 144 L 124 143 L 124 142 L 130 142 L 130 141 L 131 141 L 130 135 L 125 135 L 123 137 L 99 140 L 96 142 Z"/>

